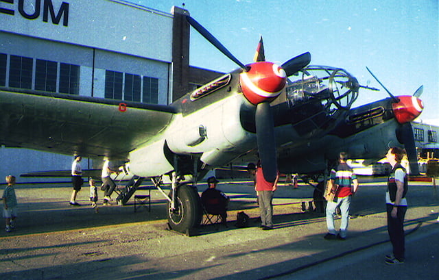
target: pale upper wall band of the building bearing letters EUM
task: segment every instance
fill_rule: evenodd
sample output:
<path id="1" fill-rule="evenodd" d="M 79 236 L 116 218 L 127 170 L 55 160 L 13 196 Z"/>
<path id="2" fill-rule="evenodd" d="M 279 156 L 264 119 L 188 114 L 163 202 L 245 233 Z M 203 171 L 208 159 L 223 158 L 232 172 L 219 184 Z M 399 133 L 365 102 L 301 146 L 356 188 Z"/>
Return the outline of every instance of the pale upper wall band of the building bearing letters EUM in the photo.
<path id="1" fill-rule="evenodd" d="M 28 17 L 38 17 L 31 20 L 23 16 L 19 9 L 20 2 L 24 4 L 24 14 Z M 46 2 L 2 1 L 0 8 L 10 10 L 14 14 L 0 14 L 0 30 L 165 62 L 172 60 L 169 45 L 172 40 L 171 14 L 124 1 L 51 0 L 55 14 L 62 16 L 60 23 L 54 24 L 50 14 L 47 15 L 47 22 L 44 21 Z M 36 11 L 38 3 L 39 12 Z M 68 3 L 68 14 L 60 13 L 62 3 Z M 64 26 L 66 16 L 68 25 Z"/>

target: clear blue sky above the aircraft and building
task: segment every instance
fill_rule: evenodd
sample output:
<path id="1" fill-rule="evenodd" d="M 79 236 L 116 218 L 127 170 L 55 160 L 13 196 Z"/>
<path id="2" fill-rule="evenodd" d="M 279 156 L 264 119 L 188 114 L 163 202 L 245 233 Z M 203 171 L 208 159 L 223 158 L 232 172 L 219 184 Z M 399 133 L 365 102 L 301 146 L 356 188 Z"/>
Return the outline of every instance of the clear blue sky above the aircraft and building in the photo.
<path id="1" fill-rule="evenodd" d="M 420 119 L 439 125 L 439 12 L 437 0 L 130 0 L 191 16 L 241 62 L 252 62 L 263 36 L 265 58 L 283 63 L 311 53 L 311 64 L 345 68 L 360 84 L 381 88 L 368 66 L 394 95 L 412 95 L 424 85 Z M 191 65 L 228 72 L 237 66 L 191 29 Z M 360 90 L 361 105 L 388 97 Z"/>

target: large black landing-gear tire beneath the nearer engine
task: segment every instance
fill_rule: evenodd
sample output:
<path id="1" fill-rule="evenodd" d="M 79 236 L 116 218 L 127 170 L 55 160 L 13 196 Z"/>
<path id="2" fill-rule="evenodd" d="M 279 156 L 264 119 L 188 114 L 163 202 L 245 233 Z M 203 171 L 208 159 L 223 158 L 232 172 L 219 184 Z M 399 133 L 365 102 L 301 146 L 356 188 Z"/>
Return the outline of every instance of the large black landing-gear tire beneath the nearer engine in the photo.
<path id="1" fill-rule="evenodd" d="M 167 203 L 169 227 L 182 233 L 186 233 L 193 227 L 198 227 L 202 220 L 202 209 L 197 190 L 186 184 L 178 187 L 176 203 L 176 210 L 171 209 L 169 201 Z"/>

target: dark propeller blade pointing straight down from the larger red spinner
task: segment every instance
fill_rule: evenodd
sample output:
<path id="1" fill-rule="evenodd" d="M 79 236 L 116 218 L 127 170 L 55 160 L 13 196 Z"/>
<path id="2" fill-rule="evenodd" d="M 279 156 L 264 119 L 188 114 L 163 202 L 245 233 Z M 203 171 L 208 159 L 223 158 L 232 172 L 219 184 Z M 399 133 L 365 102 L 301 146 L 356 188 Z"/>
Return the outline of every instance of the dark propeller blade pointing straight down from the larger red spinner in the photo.
<path id="1" fill-rule="evenodd" d="M 277 176 L 277 159 L 274 120 L 270 103 L 263 102 L 257 105 L 254 120 L 263 177 L 266 181 L 273 183 Z"/>

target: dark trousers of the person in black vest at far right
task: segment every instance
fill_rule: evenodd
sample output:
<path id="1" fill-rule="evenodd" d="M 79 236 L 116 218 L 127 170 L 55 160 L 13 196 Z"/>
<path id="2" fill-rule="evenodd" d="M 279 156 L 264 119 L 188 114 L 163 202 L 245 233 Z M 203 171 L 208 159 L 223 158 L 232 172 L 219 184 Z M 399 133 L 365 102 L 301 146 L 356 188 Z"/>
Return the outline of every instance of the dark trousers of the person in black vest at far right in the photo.
<path id="1" fill-rule="evenodd" d="M 396 218 L 392 218 L 392 209 L 393 205 L 387 204 L 387 230 L 393 246 L 393 255 L 403 261 L 405 259 L 404 216 L 407 206 L 398 207 Z"/>

